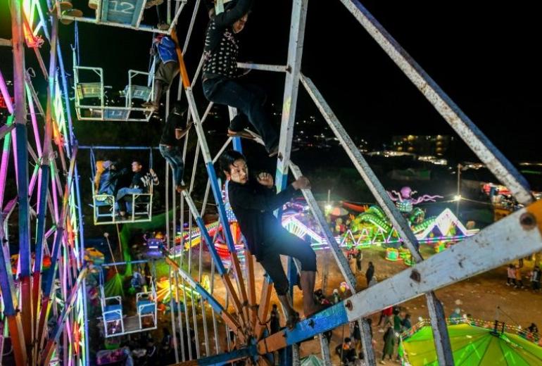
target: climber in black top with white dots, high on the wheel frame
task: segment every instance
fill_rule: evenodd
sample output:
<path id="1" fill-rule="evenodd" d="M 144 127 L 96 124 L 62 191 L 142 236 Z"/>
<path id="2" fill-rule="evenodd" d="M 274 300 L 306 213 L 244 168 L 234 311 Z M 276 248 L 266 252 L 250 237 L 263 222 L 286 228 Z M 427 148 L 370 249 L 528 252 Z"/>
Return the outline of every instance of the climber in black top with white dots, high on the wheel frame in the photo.
<path id="1" fill-rule="evenodd" d="M 276 156 L 279 136 L 265 113 L 267 96 L 260 87 L 242 80 L 240 77 L 246 72 L 237 69 L 240 46 L 237 34 L 243 30 L 252 4 L 253 0 L 218 0 L 210 10 L 203 50 L 203 94 L 213 103 L 239 111 L 229 124 L 228 136 L 253 138 L 244 131 L 248 119 L 262 137 L 267 153 Z"/>

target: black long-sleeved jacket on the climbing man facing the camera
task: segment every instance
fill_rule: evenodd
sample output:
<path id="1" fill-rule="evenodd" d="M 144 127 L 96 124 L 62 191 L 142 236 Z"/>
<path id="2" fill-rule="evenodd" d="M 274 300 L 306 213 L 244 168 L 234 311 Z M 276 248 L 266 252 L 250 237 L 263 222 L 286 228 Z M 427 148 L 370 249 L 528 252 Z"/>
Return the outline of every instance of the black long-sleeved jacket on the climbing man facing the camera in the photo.
<path id="1" fill-rule="evenodd" d="M 275 187 L 268 189 L 255 179 L 248 179 L 246 184 L 229 181 L 229 204 L 245 236 L 248 250 L 256 256 L 256 260 L 259 261 L 263 255 L 262 246 L 286 231 L 273 211 L 288 202 L 295 191 L 291 184 L 275 194 Z"/>

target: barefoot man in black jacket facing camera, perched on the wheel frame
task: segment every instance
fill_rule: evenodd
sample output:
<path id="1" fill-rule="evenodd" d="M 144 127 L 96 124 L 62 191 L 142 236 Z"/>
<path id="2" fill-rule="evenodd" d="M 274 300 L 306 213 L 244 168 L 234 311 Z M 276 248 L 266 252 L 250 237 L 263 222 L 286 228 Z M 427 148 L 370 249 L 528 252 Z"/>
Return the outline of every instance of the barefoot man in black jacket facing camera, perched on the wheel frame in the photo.
<path id="1" fill-rule="evenodd" d="M 256 180 L 248 179 L 246 159 L 237 151 L 223 153 L 220 168 L 229 179 L 229 203 L 245 236 L 248 250 L 273 280 L 279 301 L 288 315 L 286 324 L 293 327 L 297 315 L 289 301 L 289 283 L 280 255 L 289 255 L 301 263 L 303 313 L 308 317 L 319 309 L 313 299 L 316 254 L 308 242 L 284 229 L 273 211 L 289 201 L 298 189 L 310 188 L 310 182 L 305 177 L 299 177 L 284 191 L 275 194 L 270 174 L 264 172 Z"/>

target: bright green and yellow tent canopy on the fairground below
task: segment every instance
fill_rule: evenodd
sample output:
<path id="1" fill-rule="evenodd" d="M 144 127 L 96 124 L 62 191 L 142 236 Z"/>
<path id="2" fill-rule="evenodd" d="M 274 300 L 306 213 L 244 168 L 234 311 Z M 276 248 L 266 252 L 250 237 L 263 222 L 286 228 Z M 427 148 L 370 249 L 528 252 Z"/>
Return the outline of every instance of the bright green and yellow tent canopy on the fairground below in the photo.
<path id="1" fill-rule="evenodd" d="M 448 325 L 455 365 L 542 365 L 542 347 L 517 334 L 495 336 L 491 329 L 470 324 Z M 401 343 L 404 365 L 438 365 L 431 327 L 425 326 Z"/>

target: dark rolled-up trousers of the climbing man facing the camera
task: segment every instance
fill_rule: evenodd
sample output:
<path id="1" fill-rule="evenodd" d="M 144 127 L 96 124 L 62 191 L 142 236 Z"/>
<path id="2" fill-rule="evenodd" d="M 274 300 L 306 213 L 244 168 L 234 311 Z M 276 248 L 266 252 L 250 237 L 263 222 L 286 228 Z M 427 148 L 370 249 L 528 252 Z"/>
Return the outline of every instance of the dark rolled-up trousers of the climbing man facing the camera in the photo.
<path id="1" fill-rule="evenodd" d="M 301 262 L 301 270 L 316 272 L 316 253 L 307 241 L 289 232 L 281 232 L 275 238 L 262 244 L 263 254 L 258 261 L 273 280 L 277 295 L 286 295 L 289 288 L 288 277 L 280 261 L 280 255 L 289 255 Z"/>

